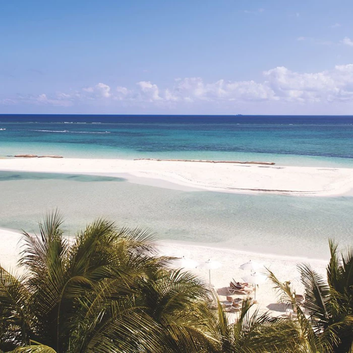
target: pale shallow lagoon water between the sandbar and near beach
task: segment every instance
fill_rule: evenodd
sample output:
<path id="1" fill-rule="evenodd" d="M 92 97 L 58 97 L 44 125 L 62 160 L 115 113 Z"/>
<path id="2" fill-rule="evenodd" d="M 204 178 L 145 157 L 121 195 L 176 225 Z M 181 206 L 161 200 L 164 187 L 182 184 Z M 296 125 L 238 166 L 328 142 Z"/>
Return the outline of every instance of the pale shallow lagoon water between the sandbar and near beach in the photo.
<path id="1" fill-rule="evenodd" d="M 0 172 L 0 227 L 37 229 L 58 207 L 75 231 L 97 216 L 143 226 L 162 239 L 292 256 L 328 256 L 328 238 L 353 234 L 352 197 L 311 198 L 185 192 L 124 178 Z"/>

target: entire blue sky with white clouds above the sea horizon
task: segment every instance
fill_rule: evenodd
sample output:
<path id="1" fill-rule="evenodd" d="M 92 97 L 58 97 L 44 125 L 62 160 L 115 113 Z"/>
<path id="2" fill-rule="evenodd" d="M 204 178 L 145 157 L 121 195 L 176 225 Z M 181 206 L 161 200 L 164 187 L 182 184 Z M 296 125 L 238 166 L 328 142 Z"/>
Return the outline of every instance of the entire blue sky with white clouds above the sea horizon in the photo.
<path id="1" fill-rule="evenodd" d="M 351 0 L 2 0 L 0 113 L 353 114 Z"/>

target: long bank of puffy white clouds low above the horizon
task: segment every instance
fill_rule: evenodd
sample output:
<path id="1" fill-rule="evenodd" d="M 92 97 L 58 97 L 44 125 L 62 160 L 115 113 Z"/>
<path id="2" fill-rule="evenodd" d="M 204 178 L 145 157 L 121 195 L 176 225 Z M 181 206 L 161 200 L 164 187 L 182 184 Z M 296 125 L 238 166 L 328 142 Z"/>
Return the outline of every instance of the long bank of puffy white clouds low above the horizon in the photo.
<path id="1" fill-rule="evenodd" d="M 74 104 L 130 106 L 164 106 L 173 108 L 183 104 L 221 104 L 232 106 L 252 102 L 330 103 L 351 101 L 353 103 L 353 64 L 337 65 L 331 70 L 316 73 L 299 73 L 285 67 L 263 72 L 259 81 L 229 81 L 219 79 L 207 82 L 201 77 L 177 78 L 167 87 L 159 87 L 151 81 L 139 81 L 132 88 L 111 88 L 98 83 L 76 91 L 43 93 L 36 97 L 5 97 L 2 104 L 18 101 L 40 105 L 70 106 Z"/>

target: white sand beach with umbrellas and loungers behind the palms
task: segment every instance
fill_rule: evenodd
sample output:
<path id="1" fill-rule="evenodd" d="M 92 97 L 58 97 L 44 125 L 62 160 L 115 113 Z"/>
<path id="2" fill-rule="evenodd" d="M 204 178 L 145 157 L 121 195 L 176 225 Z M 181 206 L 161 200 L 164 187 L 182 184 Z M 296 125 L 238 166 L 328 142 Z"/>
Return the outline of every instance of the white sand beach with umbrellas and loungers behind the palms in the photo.
<path id="1" fill-rule="evenodd" d="M 16 268 L 21 251 L 20 240 L 21 234 L 19 232 L 0 229 L 0 264 L 7 270 L 15 270 Z M 160 245 L 160 254 L 173 257 L 184 256 L 186 259 L 194 260 L 199 264 L 209 259 L 220 262 L 222 264 L 220 268 L 211 270 L 211 284 L 218 293 L 220 301 L 225 301 L 226 296 L 229 295 L 227 287 L 232 278 L 242 281 L 244 275 L 250 274 L 249 270 L 240 269 L 240 266 L 249 260 L 263 264 L 274 272 L 281 281 L 290 280 L 297 293 L 303 293 L 303 286 L 300 282 L 300 275 L 297 270 L 298 264 L 309 263 L 316 271 L 323 275 L 325 275 L 325 266 L 327 265 L 327 261 L 325 260 L 311 260 L 300 257 L 288 257 L 285 255 L 262 255 L 187 243 L 163 242 Z M 258 272 L 265 272 L 265 267 Z M 209 280 L 209 271 L 207 269 L 194 268 L 186 270 L 204 278 L 207 282 Z M 16 273 L 23 273 L 23 269 L 17 268 Z M 256 301 L 258 304 L 254 306 L 254 310 L 258 308 L 260 312 L 269 311 L 273 316 L 283 315 L 285 307 L 277 304 L 276 293 L 272 287 L 273 285 L 269 280 L 259 285 L 256 291 Z M 233 298 L 236 297 L 244 296 L 233 296 Z M 231 317 L 235 319 L 236 315 L 237 314 L 231 314 Z"/>

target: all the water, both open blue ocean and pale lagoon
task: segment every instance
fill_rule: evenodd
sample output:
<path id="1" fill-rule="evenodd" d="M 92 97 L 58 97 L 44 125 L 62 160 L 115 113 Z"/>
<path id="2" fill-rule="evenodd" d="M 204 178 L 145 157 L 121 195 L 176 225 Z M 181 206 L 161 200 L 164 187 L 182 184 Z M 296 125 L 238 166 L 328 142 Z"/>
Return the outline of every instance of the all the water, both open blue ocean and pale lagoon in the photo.
<path id="1" fill-rule="evenodd" d="M 351 116 L 0 115 L 0 156 L 267 160 L 353 166 Z M 0 171 L 0 227 L 37 229 L 60 209 L 72 234 L 95 217 L 161 239 L 310 258 L 353 240 L 353 197 L 183 191 L 99 175 Z"/>

